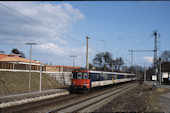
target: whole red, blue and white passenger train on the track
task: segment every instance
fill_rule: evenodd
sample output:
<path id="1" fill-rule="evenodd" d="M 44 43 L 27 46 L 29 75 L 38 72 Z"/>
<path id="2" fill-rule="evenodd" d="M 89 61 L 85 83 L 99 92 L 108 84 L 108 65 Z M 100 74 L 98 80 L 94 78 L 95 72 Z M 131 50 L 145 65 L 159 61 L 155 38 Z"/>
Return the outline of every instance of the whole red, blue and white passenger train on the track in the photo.
<path id="1" fill-rule="evenodd" d="M 70 93 L 90 91 L 91 89 L 111 84 L 133 81 L 135 74 L 75 69 L 70 85 Z"/>

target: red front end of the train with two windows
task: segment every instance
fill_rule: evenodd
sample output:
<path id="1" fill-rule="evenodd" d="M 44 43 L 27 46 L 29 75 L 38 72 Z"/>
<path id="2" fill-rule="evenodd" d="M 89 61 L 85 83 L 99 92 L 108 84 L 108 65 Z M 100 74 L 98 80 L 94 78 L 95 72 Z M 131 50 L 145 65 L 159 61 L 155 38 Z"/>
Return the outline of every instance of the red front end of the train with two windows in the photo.
<path id="1" fill-rule="evenodd" d="M 89 91 L 90 77 L 89 70 L 73 70 L 73 79 L 71 81 L 70 93 Z"/>

